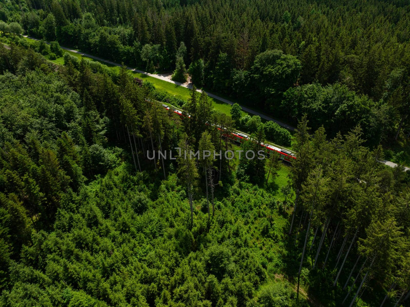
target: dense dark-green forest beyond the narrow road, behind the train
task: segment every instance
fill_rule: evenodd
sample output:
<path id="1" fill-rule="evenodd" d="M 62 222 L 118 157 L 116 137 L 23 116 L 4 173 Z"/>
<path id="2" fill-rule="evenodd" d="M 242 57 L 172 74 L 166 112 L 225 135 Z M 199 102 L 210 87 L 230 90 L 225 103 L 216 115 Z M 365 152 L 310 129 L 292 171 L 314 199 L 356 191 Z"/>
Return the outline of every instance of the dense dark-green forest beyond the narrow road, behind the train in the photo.
<path id="1" fill-rule="evenodd" d="M 410 71 L 403 1 L 14 2 L 1 4 L 6 32 L 19 33 L 19 22 L 27 34 L 117 63 L 175 70 L 181 82 L 189 67 L 197 87 L 293 123 L 307 113 L 332 136 L 361 123 L 370 146 L 410 131 L 399 98 Z M 403 85 L 392 88 L 392 78 Z"/>

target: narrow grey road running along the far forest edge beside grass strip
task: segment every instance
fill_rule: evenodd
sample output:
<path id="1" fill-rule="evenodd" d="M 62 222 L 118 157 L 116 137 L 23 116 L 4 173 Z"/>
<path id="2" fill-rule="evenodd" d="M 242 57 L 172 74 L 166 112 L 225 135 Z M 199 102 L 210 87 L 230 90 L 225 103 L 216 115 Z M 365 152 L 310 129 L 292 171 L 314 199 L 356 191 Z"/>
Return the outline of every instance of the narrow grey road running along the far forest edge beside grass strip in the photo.
<path id="1" fill-rule="evenodd" d="M 36 38 L 34 38 L 34 37 L 32 37 L 32 36 L 28 36 L 28 35 L 24 35 L 24 36 L 27 37 L 27 38 L 29 38 L 29 39 L 34 39 L 35 41 L 38 41 L 38 40 L 39 40 L 39 39 L 36 39 Z M 7 46 L 7 47 L 6 47 L 6 46 L 7 46 L 7 45 L 5 45 L 5 48 L 8 47 L 8 46 Z M 105 60 L 105 59 L 102 59 L 102 58 L 100 58 L 100 57 L 96 57 L 96 56 L 93 56 L 93 55 L 89 55 L 88 53 L 80 52 L 80 51 L 73 50 L 73 49 L 66 48 L 66 47 L 61 47 L 61 48 L 63 48 L 64 50 L 68 50 L 68 51 L 74 52 L 74 53 L 78 53 L 79 55 L 83 55 L 83 56 L 85 56 L 85 57 L 89 57 L 89 58 L 91 58 L 91 59 L 95 59 L 95 60 L 97 60 L 97 61 L 101 61 L 101 62 L 110 64 L 110 65 L 114 65 L 114 66 L 119 66 L 119 67 L 121 67 L 121 64 L 114 63 L 114 62 L 112 62 L 112 61 L 108 61 L 108 60 Z M 146 71 L 138 70 L 138 69 L 132 68 L 132 67 L 127 67 L 127 69 L 132 70 L 132 71 L 135 71 L 135 72 L 137 72 L 137 73 L 142 73 L 142 74 L 144 74 L 144 75 L 147 75 L 147 76 L 150 76 L 150 77 L 154 77 L 154 78 L 157 78 L 157 79 L 166 81 L 166 82 L 171 82 L 171 83 L 173 83 L 173 84 L 178 84 L 178 85 L 180 85 L 180 86 L 184 86 L 184 87 L 189 88 L 189 89 L 192 88 L 192 86 L 191 86 L 190 84 L 187 85 L 187 84 L 182 84 L 182 83 L 180 83 L 180 82 L 172 81 L 172 80 L 170 80 L 169 78 L 167 78 L 165 75 L 162 75 L 162 74 L 147 73 Z M 197 91 L 200 92 L 199 89 L 198 89 Z M 220 101 L 222 101 L 222 102 L 228 103 L 229 105 L 233 105 L 233 102 L 230 101 L 230 100 L 228 100 L 228 99 L 219 97 L 219 96 L 214 95 L 214 94 L 209 93 L 209 92 L 206 92 L 206 93 L 208 94 L 208 96 L 210 96 L 210 97 L 212 97 L 212 98 L 215 98 L 215 99 L 220 100 Z M 260 113 L 260 112 L 257 112 L 257 111 L 255 111 L 255 110 L 249 109 L 249 108 L 244 107 L 244 106 L 241 106 L 241 108 L 242 108 L 242 110 L 244 110 L 245 112 L 248 112 L 249 114 L 258 115 L 258 116 L 260 116 L 260 118 L 266 119 L 266 121 L 273 121 L 273 122 L 277 123 L 278 125 L 280 125 L 280 126 L 286 128 L 286 129 L 288 129 L 288 130 L 292 130 L 292 131 L 295 130 L 295 127 L 292 127 L 292 126 L 290 126 L 290 125 L 287 125 L 287 124 L 285 124 L 285 123 L 282 123 L 281 121 L 278 121 L 278 120 L 276 120 L 276 119 L 274 119 L 274 118 L 271 118 L 271 117 L 269 117 L 269 116 L 267 116 L 267 115 L 265 115 L 265 114 L 262 114 L 262 113 Z M 388 166 L 390 166 L 390 167 L 395 167 L 395 166 L 397 166 L 396 163 L 391 162 L 391 161 L 383 160 L 383 161 L 381 161 L 381 162 L 384 163 L 384 164 L 386 164 L 386 165 L 388 165 Z M 410 168 L 408 168 L 408 167 L 406 167 L 406 166 L 405 166 L 404 168 L 405 168 L 406 171 L 410 171 Z"/>

